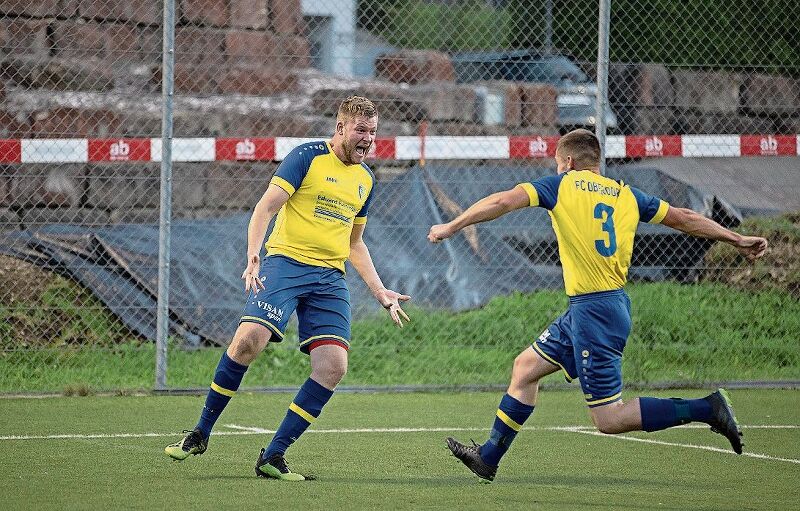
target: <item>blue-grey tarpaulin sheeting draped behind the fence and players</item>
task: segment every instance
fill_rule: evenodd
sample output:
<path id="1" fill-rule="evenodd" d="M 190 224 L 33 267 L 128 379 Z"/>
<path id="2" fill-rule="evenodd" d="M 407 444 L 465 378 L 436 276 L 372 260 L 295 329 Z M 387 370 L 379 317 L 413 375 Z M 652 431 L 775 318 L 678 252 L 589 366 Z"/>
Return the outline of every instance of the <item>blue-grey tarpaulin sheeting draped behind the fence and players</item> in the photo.
<path id="1" fill-rule="evenodd" d="M 432 245 L 430 226 L 479 198 L 552 173 L 549 168 L 427 166 L 378 182 L 364 239 L 378 273 L 416 305 L 479 307 L 496 295 L 563 286 L 546 211 L 527 208 Z M 738 212 L 713 195 L 656 169 L 611 167 L 608 175 L 736 225 Z M 244 305 L 248 214 L 172 223 L 170 329 L 188 342 L 227 343 Z M 57 271 L 90 289 L 139 335 L 155 339 L 158 225 L 46 225 L 6 235 L 0 253 Z M 660 225 L 641 224 L 630 276 L 691 279 L 710 243 Z M 356 318 L 379 309 L 348 266 Z"/>

